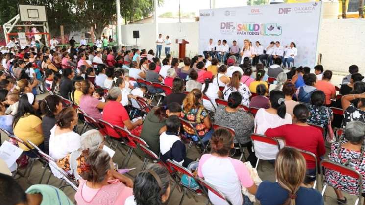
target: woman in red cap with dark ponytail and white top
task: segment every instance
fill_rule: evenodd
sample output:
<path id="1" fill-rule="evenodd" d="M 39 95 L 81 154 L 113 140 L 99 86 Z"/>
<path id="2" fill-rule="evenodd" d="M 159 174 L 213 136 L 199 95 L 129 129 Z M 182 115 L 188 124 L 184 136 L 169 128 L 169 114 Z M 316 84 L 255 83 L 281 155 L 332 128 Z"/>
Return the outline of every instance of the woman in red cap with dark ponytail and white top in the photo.
<path id="1" fill-rule="evenodd" d="M 217 108 L 216 99 L 222 98 L 223 93 L 219 90 L 219 87 L 212 83 L 213 75 L 211 72 L 205 72 L 203 74 L 204 84 L 201 87 L 203 95 L 206 95 L 209 100 L 203 99 L 204 108 L 210 111 L 215 111 Z"/>

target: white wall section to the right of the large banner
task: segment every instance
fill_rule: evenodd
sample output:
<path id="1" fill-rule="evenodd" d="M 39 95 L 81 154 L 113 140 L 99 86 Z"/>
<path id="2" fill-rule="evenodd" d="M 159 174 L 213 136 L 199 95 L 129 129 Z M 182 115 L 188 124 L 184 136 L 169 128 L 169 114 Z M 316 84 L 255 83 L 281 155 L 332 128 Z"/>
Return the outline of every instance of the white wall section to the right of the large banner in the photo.
<path id="1" fill-rule="evenodd" d="M 365 19 L 322 20 L 318 50 L 325 69 L 348 72 L 348 67 L 355 64 L 365 74 L 364 46 Z"/>

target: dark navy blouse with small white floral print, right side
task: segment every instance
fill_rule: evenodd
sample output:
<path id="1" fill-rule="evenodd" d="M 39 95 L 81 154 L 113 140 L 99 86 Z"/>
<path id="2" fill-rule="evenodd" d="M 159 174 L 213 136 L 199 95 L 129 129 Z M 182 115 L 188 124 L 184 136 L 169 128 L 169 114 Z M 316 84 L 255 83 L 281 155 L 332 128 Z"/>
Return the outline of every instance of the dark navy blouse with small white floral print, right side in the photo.
<path id="1" fill-rule="evenodd" d="M 308 117 L 307 122 L 315 125 L 320 125 L 324 129 L 327 129 L 328 120 L 331 120 L 333 117 L 332 110 L 326 106 L 315 105 L 308 105 L 308 110 L 311 116 Z"/>

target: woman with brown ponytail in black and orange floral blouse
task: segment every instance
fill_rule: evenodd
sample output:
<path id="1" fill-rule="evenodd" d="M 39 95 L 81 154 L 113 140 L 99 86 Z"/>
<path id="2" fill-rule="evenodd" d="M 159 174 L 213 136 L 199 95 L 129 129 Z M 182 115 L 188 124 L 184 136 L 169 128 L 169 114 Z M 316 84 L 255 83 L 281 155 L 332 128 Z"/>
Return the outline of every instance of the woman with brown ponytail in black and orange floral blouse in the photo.
<path id="1" fill-rule="evenodd" d="M 184 99 L 182 105 L 181 118 L 188 120 L 190 124 L 195 127 L 199 137 L 203 142 L 207 142 L 213 134 L 211 129 L 212 124 L 210 122 L 208 112 L 201 105 L 203 94 L 198 89 L 193 89 Z M 184 126 L 188 137 L 193 141 L 198 141 L 193 130 Z"/>

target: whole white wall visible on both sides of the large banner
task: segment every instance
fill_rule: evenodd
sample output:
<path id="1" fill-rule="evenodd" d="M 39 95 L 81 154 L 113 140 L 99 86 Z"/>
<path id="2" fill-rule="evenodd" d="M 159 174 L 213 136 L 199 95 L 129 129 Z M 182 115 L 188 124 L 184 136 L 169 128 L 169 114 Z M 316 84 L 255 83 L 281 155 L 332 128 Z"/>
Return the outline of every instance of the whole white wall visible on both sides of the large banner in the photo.
<path id="1" fill-rule="evenodd" d="M 154 24 L 122 25 L 124 44 L 136 44 L 136 40 L 133 39 L 133 30 L 140 30 L 140 39 L 138 39 L 140 48 L 156 50 Z M 184 38 L 190 42 L 186 47 L 187 56 L 192 57 L 198 53 L 199 22 L 161 23 L 159 33 L 170 36 L 171 54 L 174 57 L 178 56 L 176 38 Z M 322 65 L 325 69 L 347 72 L 350 65 L 356 64 L 360 72 L 365 74 L 365 19 L 323 19 L 318 50 L 322 53 Z M 162 55 L 164 55 L 164 47 Z"/>

